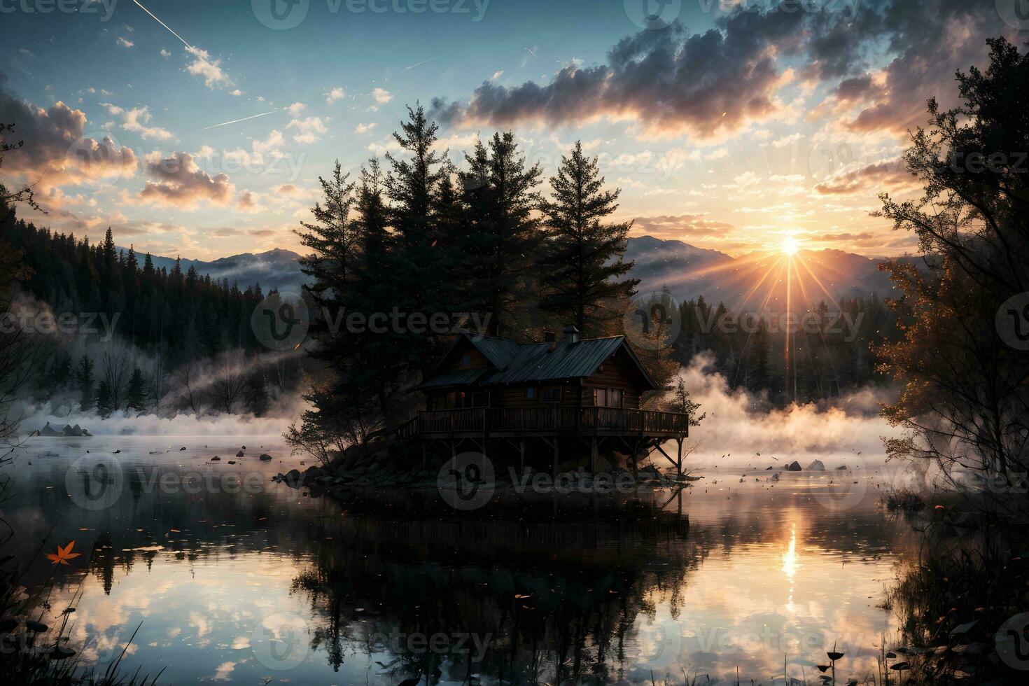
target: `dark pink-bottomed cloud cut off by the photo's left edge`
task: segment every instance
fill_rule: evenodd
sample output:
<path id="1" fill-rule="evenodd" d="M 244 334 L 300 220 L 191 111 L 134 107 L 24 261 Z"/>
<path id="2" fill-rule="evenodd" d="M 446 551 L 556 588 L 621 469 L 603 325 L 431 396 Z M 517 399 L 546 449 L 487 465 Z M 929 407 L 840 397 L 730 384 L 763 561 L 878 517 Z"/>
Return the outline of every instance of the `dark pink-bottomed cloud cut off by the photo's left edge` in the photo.
<path id="1" fill-rule="evenodd" d="M 86 117 L 61 101 L 49 109 L 16 100 L 4 88 L 0 72 L 0 121 L 14 124 L 11 142 L 25 145 L 4 155 L 3 171 L 21 174 L 40 190 L 65 183 L 133 176 L 138 161 L 132 148 L 107 134 L 85 135 Z"/>

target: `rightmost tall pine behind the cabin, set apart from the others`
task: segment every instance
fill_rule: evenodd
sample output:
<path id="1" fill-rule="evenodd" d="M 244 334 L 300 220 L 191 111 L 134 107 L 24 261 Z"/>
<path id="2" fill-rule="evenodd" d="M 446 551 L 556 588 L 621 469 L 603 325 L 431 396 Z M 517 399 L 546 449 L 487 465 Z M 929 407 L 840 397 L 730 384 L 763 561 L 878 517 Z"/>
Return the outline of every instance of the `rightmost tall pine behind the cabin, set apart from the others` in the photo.
<path id="1" fill-rule="evenodd" d="M 623 315 L 618 301 L 636 293 L 639 279 L 616 281 L 633 262 L 622 261 L 632 222 L 603 223 L 617 209 L 619 189 L 604 190 L 597 157 L 582 154 L 576 141 L 551 177 L 552 200 L 540 209 L 546 244 L 540 260 L 547 275 L 542 310 L 570 317 L 583 334 L 603 332 L 603 324 Z"/>

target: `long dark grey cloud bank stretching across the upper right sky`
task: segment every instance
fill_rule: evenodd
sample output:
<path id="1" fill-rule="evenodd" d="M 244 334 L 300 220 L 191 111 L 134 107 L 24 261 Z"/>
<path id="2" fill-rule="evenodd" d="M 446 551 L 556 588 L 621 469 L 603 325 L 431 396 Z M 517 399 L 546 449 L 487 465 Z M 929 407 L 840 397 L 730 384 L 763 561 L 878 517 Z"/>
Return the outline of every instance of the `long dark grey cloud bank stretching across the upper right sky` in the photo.
<path id="1" fill-rule="evenodd" d="M 788 65 L 803 61 L 802 92 L 828 83 L 829 100 L 856 108 L 848 128 L 897 134 L 924 121 L 928 97 L 947 94 L 945 105 L 957 103 L 954 69 L 983 63 L 986 36 L 1020 42 L 991 2 L 865 0 L 856 10 L 840 9 L 757 11 L 742 3 L 704 33 L 678 24 L 642 31 L 614 44 L 602 64 L 572 63 L 546 82 L 488 80 L 466 101 L 433 99 L 431 114 L 464 129 L 606 118 L 637 121 L 645 135 L 715 138 L 749 122 L 795 116 L 804 99 L 787 109 L 779 94 L 793 77 Z M 868 70 L 884 59 L 877 82 Z"/>

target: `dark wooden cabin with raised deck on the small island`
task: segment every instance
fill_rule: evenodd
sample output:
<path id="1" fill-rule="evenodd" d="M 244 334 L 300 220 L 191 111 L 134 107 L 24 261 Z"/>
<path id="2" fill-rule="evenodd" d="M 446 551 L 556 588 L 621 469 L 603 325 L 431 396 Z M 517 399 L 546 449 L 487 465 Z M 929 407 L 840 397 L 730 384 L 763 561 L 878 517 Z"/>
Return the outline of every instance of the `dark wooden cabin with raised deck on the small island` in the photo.
<path id="1" fill-rule="evenodd" d="M 556 463 L 560 440 L 581 438 L 594 458 L 612 439 L 635 458 L 669 439 L 681 448 L 689 430 L 685 414 L 640 409 L 657 385 L 625 336 L 580 339 L 574 326 L 562 340 L 532 344 L 463 333 L 420 389 L 426 409 L 401 435 L 449 442 L 452 453 L 461 440 L 485 452 L 497 438 L 524 454 L 527 438 L 542 438 Z"/>

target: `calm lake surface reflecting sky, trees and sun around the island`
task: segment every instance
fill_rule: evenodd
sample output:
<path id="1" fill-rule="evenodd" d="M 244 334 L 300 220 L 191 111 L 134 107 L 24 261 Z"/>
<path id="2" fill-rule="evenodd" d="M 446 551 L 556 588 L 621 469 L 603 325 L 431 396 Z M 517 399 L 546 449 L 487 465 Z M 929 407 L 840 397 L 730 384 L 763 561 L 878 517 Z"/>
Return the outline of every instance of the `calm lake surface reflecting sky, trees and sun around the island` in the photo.
<path id="1" fill-rule="evenodd" d="M 3 504 L 14 545 L 82 553 L 30 568 L 56 584 L 44 621 L 74 607 L 69 645 L 100 663 L 139 626 L 127 664 L 173 684 L 769 684 L 784 661 L 813 682 L 833 643 L 838 675 L 863 677 L 895 630 L 878 606 L 910 542 L 872 472 L 710 470 L 678 494 L 455 516 L 435 491 L 339 503 L 272 483 L 300 461 L 276 441 L 29 439 Z"/>

